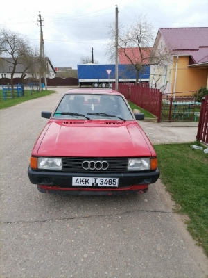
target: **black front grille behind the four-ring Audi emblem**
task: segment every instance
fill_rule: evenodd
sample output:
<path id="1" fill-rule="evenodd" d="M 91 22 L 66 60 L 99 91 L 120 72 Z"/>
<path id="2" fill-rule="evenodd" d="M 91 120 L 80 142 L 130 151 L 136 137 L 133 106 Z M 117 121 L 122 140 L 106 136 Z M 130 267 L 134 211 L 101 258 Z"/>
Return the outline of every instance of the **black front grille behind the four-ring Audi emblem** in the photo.
<path id="1" fill-rule="evenodd" d="M 84 161 L 107 161 L 108 167 L 106 170 L 90 170 L 83 169 Z M 100 163 L 99 163 L 100 166 Z M 112 158 L 112 157 L 63 157 L 62 158 L 62 171 L 64 172 L 127 172 L 128 158 Z"/>

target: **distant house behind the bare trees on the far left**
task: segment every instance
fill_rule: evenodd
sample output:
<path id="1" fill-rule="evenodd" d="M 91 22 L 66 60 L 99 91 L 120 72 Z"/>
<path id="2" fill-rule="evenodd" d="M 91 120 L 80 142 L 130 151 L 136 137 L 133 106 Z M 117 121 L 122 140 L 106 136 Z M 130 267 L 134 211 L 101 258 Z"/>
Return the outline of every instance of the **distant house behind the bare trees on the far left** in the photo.
<path id="1" fill-rule="evenodd" d="M 3 60 L 0 58 L 0 78 L 11 78 L 11 73 L 12 73 L 12 58 L 5 58 L 6 60 Z M 16 77 L 21 77 L 22 72 L 24 72 L 24 65 L 21 63 L 18 63 L 16 66 L 14 78 Z M 33 65 L 33 74 L 31 74 L 30 70 L 27 70 L 25 72 L 25 77 L 35 77 L 39 78 L 39 73 L 38 73 L 38 68 L 37 66 Z M 51 63 L 51 60 L 47 58 L 47 73 L 46 73 L 47 78 L 55 78 L 55 69 Z"/>

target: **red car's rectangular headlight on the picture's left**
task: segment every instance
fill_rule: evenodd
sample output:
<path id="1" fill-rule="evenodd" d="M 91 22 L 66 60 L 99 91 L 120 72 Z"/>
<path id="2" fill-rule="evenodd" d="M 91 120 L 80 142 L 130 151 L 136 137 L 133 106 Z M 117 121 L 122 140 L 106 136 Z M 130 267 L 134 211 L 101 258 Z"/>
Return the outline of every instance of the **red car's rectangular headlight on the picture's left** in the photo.
<path id="1" fill-rule="evenodd" d="M 37 168 L 47 170 L 62 170 L 62 158 L 39 157 L 37 158 Z"/>

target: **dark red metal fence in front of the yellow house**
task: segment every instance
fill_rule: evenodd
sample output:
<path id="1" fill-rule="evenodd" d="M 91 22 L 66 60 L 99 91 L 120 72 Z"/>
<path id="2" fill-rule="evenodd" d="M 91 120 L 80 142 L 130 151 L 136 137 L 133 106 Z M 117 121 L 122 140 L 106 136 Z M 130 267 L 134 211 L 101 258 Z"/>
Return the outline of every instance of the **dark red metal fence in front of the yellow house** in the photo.
<path id="1" fill-rule="evenodd" d="M 175 92 L 173 97 L 162 94 L 158 89 L 122 83 L 118 90 L 126 99 L 155 115 L 157 122 L 193 122 L 200 115 L 200 102 L 193 97 L 196 91 Z"/>

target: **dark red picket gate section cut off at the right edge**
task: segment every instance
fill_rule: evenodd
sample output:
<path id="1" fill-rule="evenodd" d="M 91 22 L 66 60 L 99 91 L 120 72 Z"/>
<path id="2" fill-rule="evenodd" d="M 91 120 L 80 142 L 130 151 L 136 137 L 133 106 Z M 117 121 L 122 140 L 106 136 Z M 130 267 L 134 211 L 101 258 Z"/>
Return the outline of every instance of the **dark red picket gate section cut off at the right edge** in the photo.
<path id="1" fill-rule="evenodd" d="M 208 144 L 208 95 L 202 99 L 196 140 Z"/>

